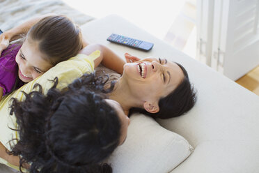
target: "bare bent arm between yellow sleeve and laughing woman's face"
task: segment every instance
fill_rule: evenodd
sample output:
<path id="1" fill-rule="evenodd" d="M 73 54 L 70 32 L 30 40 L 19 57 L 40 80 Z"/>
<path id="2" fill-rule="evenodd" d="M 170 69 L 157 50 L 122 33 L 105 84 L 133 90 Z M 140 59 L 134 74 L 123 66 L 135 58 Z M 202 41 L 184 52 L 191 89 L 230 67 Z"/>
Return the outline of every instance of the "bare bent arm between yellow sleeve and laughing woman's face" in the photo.
<path id="1" fill-rule="evenodd" d="M 100 50 L 100 57 L 95 59 L 95 68 L 99 66 L 100 63 L 111 70 L 116 71 L 117 73 L 123 74 L 123 66 L 125 61 L 120 59 L 120 57 L 111 51 L 108 47 L 100 44 L 88 45 L 81 50 L 81 54 L 89 55 L 95 50 Z"/>

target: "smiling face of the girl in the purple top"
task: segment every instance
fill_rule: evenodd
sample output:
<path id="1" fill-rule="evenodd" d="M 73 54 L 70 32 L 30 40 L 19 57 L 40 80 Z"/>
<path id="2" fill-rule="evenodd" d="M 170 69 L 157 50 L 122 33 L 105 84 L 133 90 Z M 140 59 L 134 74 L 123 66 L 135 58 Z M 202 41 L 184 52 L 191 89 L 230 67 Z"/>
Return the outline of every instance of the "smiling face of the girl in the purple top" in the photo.
<path id="1" fill-rule="evenodd" d="M 25 83 L 35 80 L 52 68 L 52 64 L 43 59 L 43 54 L 38 49 L 38 43 L 28 40 L 29 38 L 26 38 L 15 58 L 19 67 L 19 79 Z"/>

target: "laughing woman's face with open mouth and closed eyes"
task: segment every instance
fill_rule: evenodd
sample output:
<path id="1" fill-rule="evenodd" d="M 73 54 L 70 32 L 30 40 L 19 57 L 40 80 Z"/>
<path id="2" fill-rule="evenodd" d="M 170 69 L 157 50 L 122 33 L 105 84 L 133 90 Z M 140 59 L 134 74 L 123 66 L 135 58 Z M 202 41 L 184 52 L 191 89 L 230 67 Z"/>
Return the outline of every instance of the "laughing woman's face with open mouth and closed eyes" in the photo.
<path id="1" fill-rule="evenodd" d="M 183 78 L 182 69 L 176 63 L 154 57 L 125 63 L 122 76 L 132 96 L 143 103 L 149 102 L 157 105 L 159 99 L 178 87 Z M 144 108 L 146 108 L 145 105 Z"/>

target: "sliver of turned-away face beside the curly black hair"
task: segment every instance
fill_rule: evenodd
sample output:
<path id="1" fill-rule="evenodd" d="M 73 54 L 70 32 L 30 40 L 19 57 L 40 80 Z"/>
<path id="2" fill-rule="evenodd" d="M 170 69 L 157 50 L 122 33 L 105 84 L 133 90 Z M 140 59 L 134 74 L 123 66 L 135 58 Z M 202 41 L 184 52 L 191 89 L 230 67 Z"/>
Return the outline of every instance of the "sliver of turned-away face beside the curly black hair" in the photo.
<path id="1" fill-rule="evenodd" d="M 120 144 L 123 144 L 127 138 L 127 128 L 130 125 L 130 119 L 127 115 L 125 115 L 123 108 L 121 107 L 120 103 L 116 102 L 115 100 L 106 99 L 107 103 L 113 107 L 120 119 L 121 129 L 120 129 Z"/>

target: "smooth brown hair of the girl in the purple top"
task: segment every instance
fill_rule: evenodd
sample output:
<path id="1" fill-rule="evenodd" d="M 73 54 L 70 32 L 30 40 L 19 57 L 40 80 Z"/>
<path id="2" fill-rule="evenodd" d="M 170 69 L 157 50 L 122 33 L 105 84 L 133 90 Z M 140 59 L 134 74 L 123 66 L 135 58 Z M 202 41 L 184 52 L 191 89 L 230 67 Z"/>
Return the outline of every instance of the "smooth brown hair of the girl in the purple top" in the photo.
<path id="1" fill-rule="evenodd" d="M 81 31 L 68 17 L 45 17 L 31 27 L 26 39 L 38 44 L 45 59 L 54 65 L 74 57 L 83 48 Z"/>

